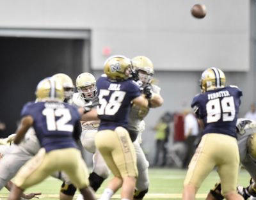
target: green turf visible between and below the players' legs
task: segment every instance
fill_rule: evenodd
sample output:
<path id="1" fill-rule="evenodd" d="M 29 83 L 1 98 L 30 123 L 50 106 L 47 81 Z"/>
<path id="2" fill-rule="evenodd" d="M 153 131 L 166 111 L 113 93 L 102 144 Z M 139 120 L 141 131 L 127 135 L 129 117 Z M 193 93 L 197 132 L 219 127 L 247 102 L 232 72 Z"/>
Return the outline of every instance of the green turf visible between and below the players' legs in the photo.
<path id="1" fill-rule="evenodd" d="M 186 170 L 183 169 L 170 169 L 170 168 L 151 168 L 149 170 L 150 176 L 150 189 L 145 199 L 150 200 L 166 200 L 166 199 L 181 199 L 182 195 L 182 182 L 184 180 Z M 245 170 L 241 170 L 239 173 L 239 185 L 246 186 L 250 179 L 249 174 Z M 214 186 L 214 183 L 218 180 L 218 174 L 215 171 L 207 177 L 199 189 L 196 199 L 204 199 L 210 188 Z M 100 196 L 102 190 L 108 183 L 108 180 L 104 182 L 100 190 L 97 192 L 97 197 Z M 42 192 L 40 199 L 58 199 L 58 193 L 60 189 L 61 181 L 54 178 L 47 178 L 44 182 L 31 187 L 26 191 Z M 8 191 L 4 188 L 0 192 L 0 198 L 5 200 L 8 196 Z M 77 193 L 76 193 L 77 196 Z M 113 199 L 120 199 L 119 192 L 113 196 Z"/>

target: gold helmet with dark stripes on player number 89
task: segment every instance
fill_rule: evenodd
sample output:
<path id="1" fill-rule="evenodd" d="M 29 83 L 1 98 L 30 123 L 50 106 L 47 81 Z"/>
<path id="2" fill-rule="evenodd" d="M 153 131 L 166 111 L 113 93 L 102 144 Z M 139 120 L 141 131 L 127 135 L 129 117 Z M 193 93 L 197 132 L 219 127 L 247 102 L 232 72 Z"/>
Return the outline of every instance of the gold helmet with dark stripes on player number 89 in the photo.
<path id="1" fill-rule="evenodd" d="M 200 79 L 200 88 L 202 93 L 211 91 L 217 88 L 224 88 L 226 84 L 226 77 L 224 72 L 220 69 L 212 67 L 208 68 L 202 73 Z"/>

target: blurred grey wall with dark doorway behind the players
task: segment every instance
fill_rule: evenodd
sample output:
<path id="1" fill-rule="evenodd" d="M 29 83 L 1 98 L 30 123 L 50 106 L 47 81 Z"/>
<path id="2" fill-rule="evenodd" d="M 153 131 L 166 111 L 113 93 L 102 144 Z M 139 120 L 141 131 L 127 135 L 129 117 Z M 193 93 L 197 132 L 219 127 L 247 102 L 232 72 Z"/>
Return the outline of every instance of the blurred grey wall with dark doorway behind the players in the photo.
<path id="1" fill-rule="evenodd" d="M 196 3 L 205 4 L 204 19 L 191 16 Z M 205 68 L 220 68 L 243 91 L 240 117 L 256 102 L 255 21 L 255 0 L 1 0 L 0 136 L 15 132 L 44 77 L 99 77 L 109 56 L 147 56 L 164 98 L 145 118 L 143 149 L 153 162 L 156 121 L 170 112 L 166 145 L 184 141 L 184 111 Z M 180 166 L 175 153 L 168 156 Z"/>

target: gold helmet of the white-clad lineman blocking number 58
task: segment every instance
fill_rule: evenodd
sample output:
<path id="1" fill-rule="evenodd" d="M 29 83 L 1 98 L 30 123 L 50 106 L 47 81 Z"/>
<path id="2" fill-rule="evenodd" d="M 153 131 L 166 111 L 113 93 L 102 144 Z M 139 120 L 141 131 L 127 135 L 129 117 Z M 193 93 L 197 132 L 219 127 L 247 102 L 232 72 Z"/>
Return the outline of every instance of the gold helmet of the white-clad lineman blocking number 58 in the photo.
<path id="1" fill-rule="evenodd" d="M 152 82 L 152 76 L 154 75 L 154 66 L 152 61 L 146 56 L 136 56 L 132 58 L 132 66 L 138 73 L 140 81 L 143 85 L 150 84 Z"/>

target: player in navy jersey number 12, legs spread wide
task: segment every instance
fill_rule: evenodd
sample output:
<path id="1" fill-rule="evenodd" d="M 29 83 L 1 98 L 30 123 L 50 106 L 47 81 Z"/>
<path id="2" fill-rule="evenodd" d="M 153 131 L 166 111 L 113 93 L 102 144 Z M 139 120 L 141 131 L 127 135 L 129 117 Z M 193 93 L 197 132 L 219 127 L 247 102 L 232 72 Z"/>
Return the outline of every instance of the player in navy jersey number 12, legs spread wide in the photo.
<path id="1" fill-rule="evenodd" d="M 8 199 L 20 199 L 26 188 L 40 183 L 55 171 L 64 171 L 86 199 L 95 199 L 88 187 L 88 178 L 84 178 L 88 177 L 88 169 L 76 142 L 81 134 L 79 112 L 76 107 L 62 103 L 63 86 L 52 78 L 39 82 L 36 99 L 38 102 L 24 105 L 13 142 L 19 144 L 33 127 L 41 149 L 20 168 Z"/>

